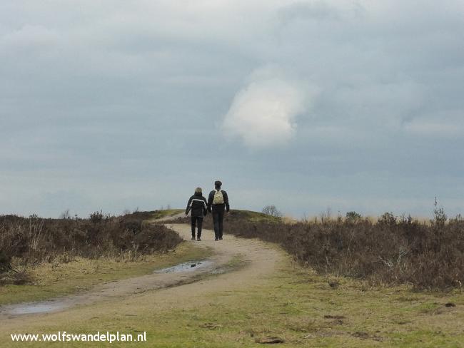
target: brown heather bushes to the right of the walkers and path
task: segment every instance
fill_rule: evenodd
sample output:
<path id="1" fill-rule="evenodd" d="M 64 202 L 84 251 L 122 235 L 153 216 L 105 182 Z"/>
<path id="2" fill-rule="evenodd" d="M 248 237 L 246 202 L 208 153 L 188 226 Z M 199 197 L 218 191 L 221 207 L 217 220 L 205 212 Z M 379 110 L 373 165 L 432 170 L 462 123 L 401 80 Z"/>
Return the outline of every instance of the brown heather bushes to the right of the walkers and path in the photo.
<path id="1" fill-rule="evenodd" d="M 204 225 L 212 228 L 211 215 Z M 448 221 L 443 211 L 435 212 L 430 223 L 391 213 L 372 222 L 350 212 L 347 218 L 292 225 L 251 221 L 235 213 L 224 219 L 224 230 L 276 242 L 318 272 L 418 289 L 447 289 L 464 282 L 464 220 Z"/>

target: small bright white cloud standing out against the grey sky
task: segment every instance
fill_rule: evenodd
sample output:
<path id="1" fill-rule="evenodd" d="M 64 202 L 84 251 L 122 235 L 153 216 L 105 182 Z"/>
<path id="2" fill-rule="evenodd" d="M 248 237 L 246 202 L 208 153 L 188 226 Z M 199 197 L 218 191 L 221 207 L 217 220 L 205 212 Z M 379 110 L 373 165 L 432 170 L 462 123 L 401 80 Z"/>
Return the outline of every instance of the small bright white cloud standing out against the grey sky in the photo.
<path id="1" fill-rule="evenodd" d="M 277 68 L 258 69 L 233 98 L 223 130 L 252 148 L 283 145 L 295 133 L 296 116 L 307 110 L 310 94 Z"/>

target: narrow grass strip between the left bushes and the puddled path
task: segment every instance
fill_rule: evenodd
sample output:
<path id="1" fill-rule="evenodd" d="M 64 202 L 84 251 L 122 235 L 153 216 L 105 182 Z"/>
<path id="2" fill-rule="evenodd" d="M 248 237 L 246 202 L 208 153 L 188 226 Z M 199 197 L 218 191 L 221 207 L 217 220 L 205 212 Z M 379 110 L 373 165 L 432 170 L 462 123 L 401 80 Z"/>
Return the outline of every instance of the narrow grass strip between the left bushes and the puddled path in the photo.
<path id="1" fill-rule="evenodd" d="M 86 290 L 101 282 L 137 277 L 159 268 L 188 260 L 202 260 L 208 256 L 211 256 L 211 250 L 183 242 L 171 252 L 141 255 L 134 260 L 125 260 L 122 255 L 118 260 L 108 257 L 94 260 L 74 257 L 74 260 L 67 263 L 43 262 L 26 269 L 31 284 L 1 286 L 0 305 L 47 300 Z"/>

